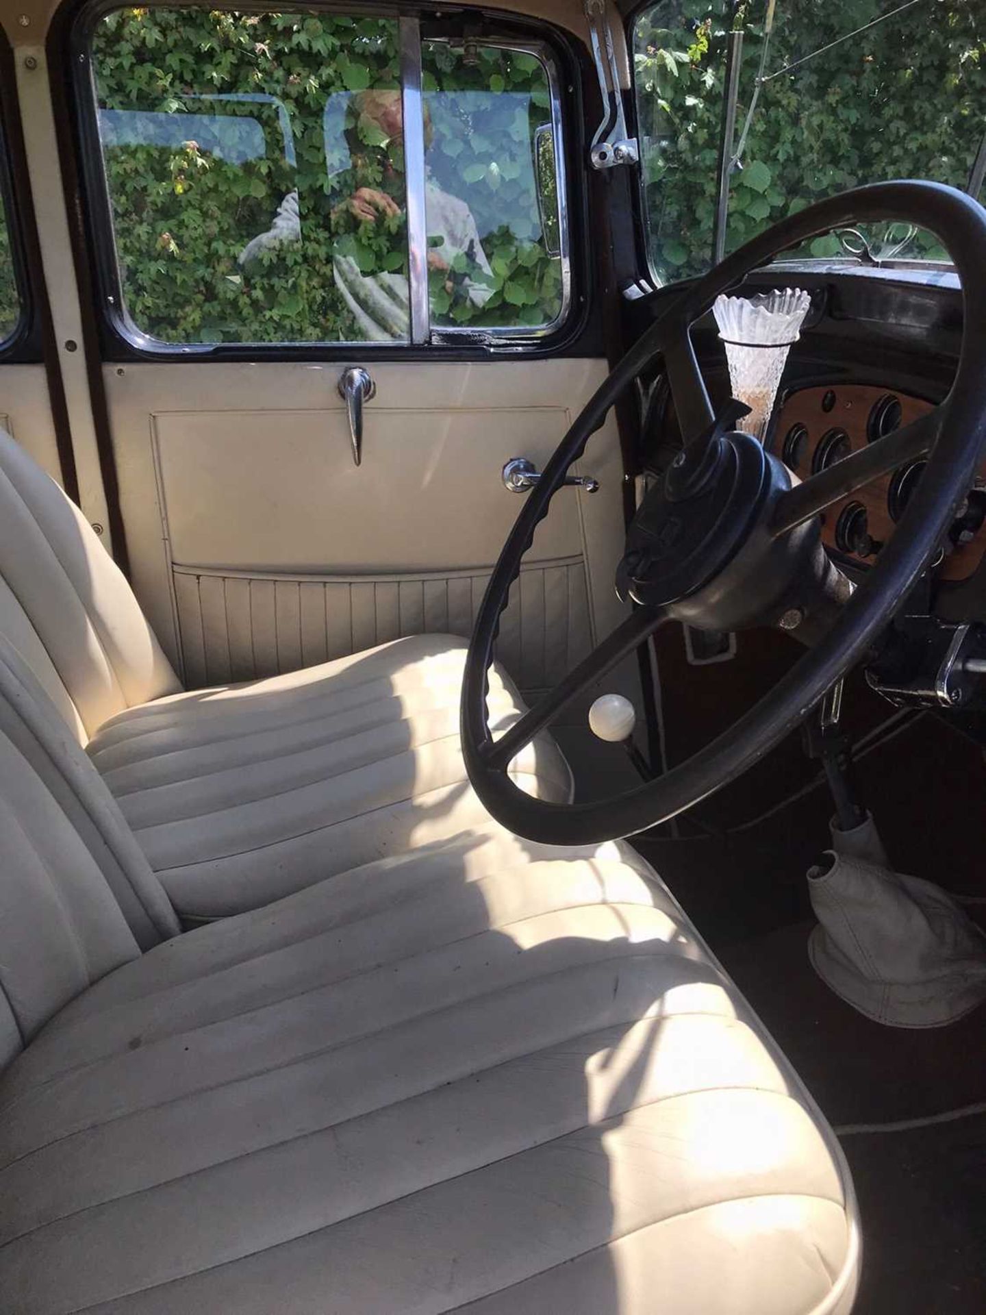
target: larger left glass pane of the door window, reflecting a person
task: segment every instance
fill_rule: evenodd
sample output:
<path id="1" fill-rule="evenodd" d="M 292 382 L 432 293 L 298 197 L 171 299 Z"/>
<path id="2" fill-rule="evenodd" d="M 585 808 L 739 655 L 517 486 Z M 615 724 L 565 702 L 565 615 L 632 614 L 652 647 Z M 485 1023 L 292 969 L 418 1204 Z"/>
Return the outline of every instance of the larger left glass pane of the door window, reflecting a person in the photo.
<path id="1" fill-rule="evenodd" d="M 396 20 L 121 9 L 92 67 L 134 337 L 408 338 Z"/>

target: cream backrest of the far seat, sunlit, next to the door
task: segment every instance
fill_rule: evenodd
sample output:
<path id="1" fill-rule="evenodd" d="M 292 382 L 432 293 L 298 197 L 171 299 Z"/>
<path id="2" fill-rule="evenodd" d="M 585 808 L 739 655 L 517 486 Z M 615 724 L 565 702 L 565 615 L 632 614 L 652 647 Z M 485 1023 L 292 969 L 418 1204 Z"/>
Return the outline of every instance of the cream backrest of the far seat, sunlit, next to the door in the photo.
<path id="1" fill-rule="evenodd" d="M 82 512 L 0 430 L 0 634 L 80 743 L 181 685 Z"/>

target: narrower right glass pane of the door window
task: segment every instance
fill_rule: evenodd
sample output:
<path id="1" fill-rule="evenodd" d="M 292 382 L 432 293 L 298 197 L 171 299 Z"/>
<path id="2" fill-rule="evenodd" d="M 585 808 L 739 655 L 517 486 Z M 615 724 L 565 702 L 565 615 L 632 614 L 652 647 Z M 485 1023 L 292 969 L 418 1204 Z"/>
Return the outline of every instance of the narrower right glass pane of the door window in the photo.
<path id="1" fill-rule="evenodd" d="M 550 60 L 430 39 L 422 85 L 433 327 L 550 327 L 568 292 Z"/>

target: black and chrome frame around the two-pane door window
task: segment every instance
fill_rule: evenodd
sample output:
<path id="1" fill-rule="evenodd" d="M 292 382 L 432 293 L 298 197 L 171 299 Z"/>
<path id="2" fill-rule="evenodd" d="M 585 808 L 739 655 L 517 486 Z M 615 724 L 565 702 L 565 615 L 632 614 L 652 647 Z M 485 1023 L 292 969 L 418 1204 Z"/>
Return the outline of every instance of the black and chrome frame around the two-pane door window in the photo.
<path id="1" fill-rule="evenodd" d="M 151 0 L 151 4 L 160 8 L 183 8 L 183 5 L 197 5 L 201 0 Z M 398 355 L 402 350 L 421 348 L 429 346 L 468 347 L 489 346 L 497 355 L 507 352 L 523 352 L 536 346 L 542 339 L 556 334 L 569 318 L 572 310 L 572 258 L 569 250 L 569 216 L 568 216 L 568 171 L 565 168 L 565 138 L 561 116 L 561 88 L 559 82 L 559 66 L 555 50 L 548 41 L 514 39 L 510 37 L 482 36 L 477 42 L 484 46 L 493 46 L 500 50 L 515 50 L 519 54 L 532 55 L 544 68 L 548 83 L 548 100 L 551 107 L 552 145 L 555 149 L 555 175 L 557 183 L 557 222 L 559 245 L 561 247 L 561 305 L 557 316 L 544 325 L 493 325 L 489 327 L 477 325 L 440 325 L 431 327 L 431 308 L 427 288 L 427 224 L 426 224 L 426 196 L 425 196 L 425 120 L 423 120 L 423 92 L 422 92 L 422 59 L 421 59 L 421 20 L 415 13 L 410 17 L 398 16 L 393 7 L 381 4 L 379 8 L 367 5 L 365 0 L 354 0 L 346 4 L 346 13 L 354 16 L 372 16 L 377 18 L 390 18 L 397 22 L 398 47 L 401 60 L 401 97 L 405 124 L 405 199 L 408 206 L 408 260 L 409 260 L 409 302 L 410 302 L 410 337 L 387 339 L 343 339 L 343 338 L 305 338 L 288 339 L 237 339 L 235 342 L 191 342 L 175 343 L 163 338 L 155 338 L 135 323 L 129 313 L 124 283 L 121 279 L 120 254 L 117 249 L 117 233 L 113 218 L 113 199 L 109 191 L 109 174 L 104 154 L 104 143 L 99 129 L 99 93 L 96 87 L 96 70 L 92 60 L 92 36 L 96 24 L 108 13 L 124 9 L 122 0 L 97 0 L 96 4 L 83 11 L 82 21 L 76 28 L 76 75 L 82 75 L 84 84 L 84 104 L 82 113 L 88 120 L 84 126 L 88 129 L 89 141 L 95 145 L 95 155 L 99 167 L 84 168 L 87 185 L 99 189 L 97 224 L 101 230 L 101 243 L 109 260 L 105 262 L 104 302 L 105 312 L 112 329 L 122 341 L 149 359 L 163 358 L 208 358 L 216 352 L 231 352 L 242 355 L 250 352 L 254 358 L 263 354 L 281 351 L 292 352 L 318 352 L 330 351 L 360 351 L 360 352 L 393 352 Z M 223 8 L 223 5 L 220 5 Z M 231 8 L 226 5 L 225 8 Z M 333 7 L 335 8 L 335 5 Z M 456 37 L 429 37 L 430 42 L 443 42 L 446 45 L 460 45 L 461 38 Z M 411 93 L 408 95 L 408 83 L 411 80 Z M 421 139 L 421 180 L 414 180 L 414 189 L 419 197 L 419 212 L 411 212 L 411 168 L 417 160 L 411 160 L 409 150 L 408 122 L 411 121 L 410 110 L 415 126 L 419 129 Z M 88 162 L 85 162 L 88 163 Z M 535 168 L 536 187 L 536 168 Z M 101 213 L 99 213 L 101 210 Z M 415 208 L 417 210 L 417 208 Z M 104 262 L 100 260 L 103 266 Z M 415 270 L 423 264 L 423 276 L 415 277 Z M 417 305 L 415 305 L 417 302 Z M 24 309 L 24 308 L 22 308 Z M 417 333 L 421 337 L 415 337 Z M 422 330 L 423 323 L 423 330 Z M 7 350 L 12 339 L 0 342 L 0 351 Z"/>

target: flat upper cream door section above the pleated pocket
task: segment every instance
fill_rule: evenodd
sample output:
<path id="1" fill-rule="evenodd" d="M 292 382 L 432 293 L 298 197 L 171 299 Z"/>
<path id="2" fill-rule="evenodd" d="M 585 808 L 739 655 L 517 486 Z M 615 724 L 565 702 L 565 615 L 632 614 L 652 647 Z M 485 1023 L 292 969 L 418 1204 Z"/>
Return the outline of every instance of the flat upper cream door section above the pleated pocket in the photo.
<path id="1" fill-rule="evenodd" d="M 172 559 L 354 575 L 489 565 L 521 508 L 504 488 L 504 463 L 530 456 L 543 466 L 565 414 L 388 406 L 377 393 L 356 466 L 339 410 L 158 413 Z M 540 556 L 581 551 L 578 518 L 567 512 L 543 523 Z"/>

